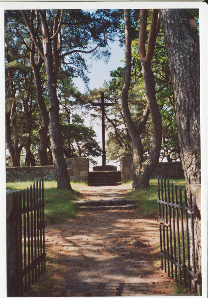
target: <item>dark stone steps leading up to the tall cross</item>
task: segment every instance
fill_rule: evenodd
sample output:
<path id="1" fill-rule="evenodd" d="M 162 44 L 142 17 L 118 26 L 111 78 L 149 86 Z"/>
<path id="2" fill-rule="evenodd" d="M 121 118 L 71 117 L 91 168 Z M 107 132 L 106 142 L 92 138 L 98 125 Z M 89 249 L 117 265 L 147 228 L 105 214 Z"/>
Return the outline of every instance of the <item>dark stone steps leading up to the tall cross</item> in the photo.
<path id="1" fill-rule="evenodd" d="M 121 171 L 89 172 L 89 186 L 116 186 L 121 184 Z"/>

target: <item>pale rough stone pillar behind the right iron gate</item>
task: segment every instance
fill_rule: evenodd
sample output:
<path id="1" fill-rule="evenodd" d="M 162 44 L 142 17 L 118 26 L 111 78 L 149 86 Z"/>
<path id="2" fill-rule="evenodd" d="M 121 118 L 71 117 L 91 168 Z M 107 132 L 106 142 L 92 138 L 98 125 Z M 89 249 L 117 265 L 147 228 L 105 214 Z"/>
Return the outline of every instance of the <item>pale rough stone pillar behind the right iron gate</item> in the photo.
<path id="1" fill-rule="evenodd" d="M 190 206 L 190 192 L 192 193 L 193 207 L 197 207 L 199 212 L 193 213 L 193 235 L 190 212 L 188 212 L 188 227 L 189 227 L 189 238 L 190 238 L 190 265 L 194 271 L 193 266 L 193 238 L 195 246 L 195 263 L 196 263 L 196 274 L 201 276 L 201 184 L 189 184 L 186 185 L 187 191 L 187 202 Z M 195 283 L 192 282 L 192 289 L 194 291 Z M 197 283 L 197 293 L 201 296 L 201 283 Z"/>

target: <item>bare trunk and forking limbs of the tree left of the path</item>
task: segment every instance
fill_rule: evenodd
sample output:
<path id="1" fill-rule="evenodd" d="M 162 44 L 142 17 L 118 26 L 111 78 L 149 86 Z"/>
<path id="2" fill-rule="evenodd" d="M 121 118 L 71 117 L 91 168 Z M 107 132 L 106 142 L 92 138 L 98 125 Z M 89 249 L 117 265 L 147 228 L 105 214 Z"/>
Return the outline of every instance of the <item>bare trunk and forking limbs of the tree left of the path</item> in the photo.
<path id="1" fill-rule="evenodd" d="M 53 32 L 50 33 L 46 19 L 46 10 L 39 10 L 41 15 L 42 27 L 42 43 L 39 43 L 38 38 L 34 34 L 34 30 L 29 23 L 25 12 L 21 10 L 21 14 L 25 24 L 30 32 L 33 43 L 38 49 L 39 55 L 45 61 L 46 77 L 48 84 L 48 97 L 49 97 L 49 137 L 51 140 L 51 151 L 53 155 L 53 162 L 56 171 L 57 187 L 59 189 L 72 190 L 70 179 L 67 171 L 67 164 L 64 159 L 64 151 L 61 138 L 61 128 L 59 123 L 59 100 L 56 94 L 57 75 L 59 70 L 59 53 L 61 51 L 61 24 L 63 10 L 60 18 L 60 10 L 56 11 L 53 22 Z M 36 14 L 39 13 L 36 11 Z M 52 28 L 51 28 L 52 29 Z M 51 35 L 53 35 L 51 37 Z M 53 43 L 53 47 L 52 47 Z M 57 47 L 59 44 L 59 48 Z"/>

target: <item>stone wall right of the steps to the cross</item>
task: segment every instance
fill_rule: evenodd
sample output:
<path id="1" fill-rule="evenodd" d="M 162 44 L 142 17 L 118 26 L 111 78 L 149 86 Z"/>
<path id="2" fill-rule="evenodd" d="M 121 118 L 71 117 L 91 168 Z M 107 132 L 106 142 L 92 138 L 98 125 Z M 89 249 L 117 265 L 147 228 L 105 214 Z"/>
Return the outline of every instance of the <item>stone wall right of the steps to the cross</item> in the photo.
<path id="1" fill-rule="evenodd" d="M 131 180 L 132 173 L 132 156 L 121 157 L 121 178 L 122 183 Z M 182 168 L 182 162 L 158 162 L 151 178 L 157 178 L 157 176 L 169 179 L 184 179 L 184 172 Z"/>

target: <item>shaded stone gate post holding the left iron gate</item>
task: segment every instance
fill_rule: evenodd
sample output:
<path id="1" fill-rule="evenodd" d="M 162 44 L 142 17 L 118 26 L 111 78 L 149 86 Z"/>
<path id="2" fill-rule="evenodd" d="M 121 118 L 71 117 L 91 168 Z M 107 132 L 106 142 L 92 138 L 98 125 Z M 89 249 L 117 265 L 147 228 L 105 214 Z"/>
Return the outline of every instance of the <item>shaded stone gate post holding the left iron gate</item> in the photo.
<path id="1" fill-rule="evenodd" d="M 21 247 L 19 206 L 21 201 L 20 190 L 6 192 L 6 229 L 7 229 L 7 297 L 18 297 L 20 282 L 17 277 L 21 273 Z"/>

